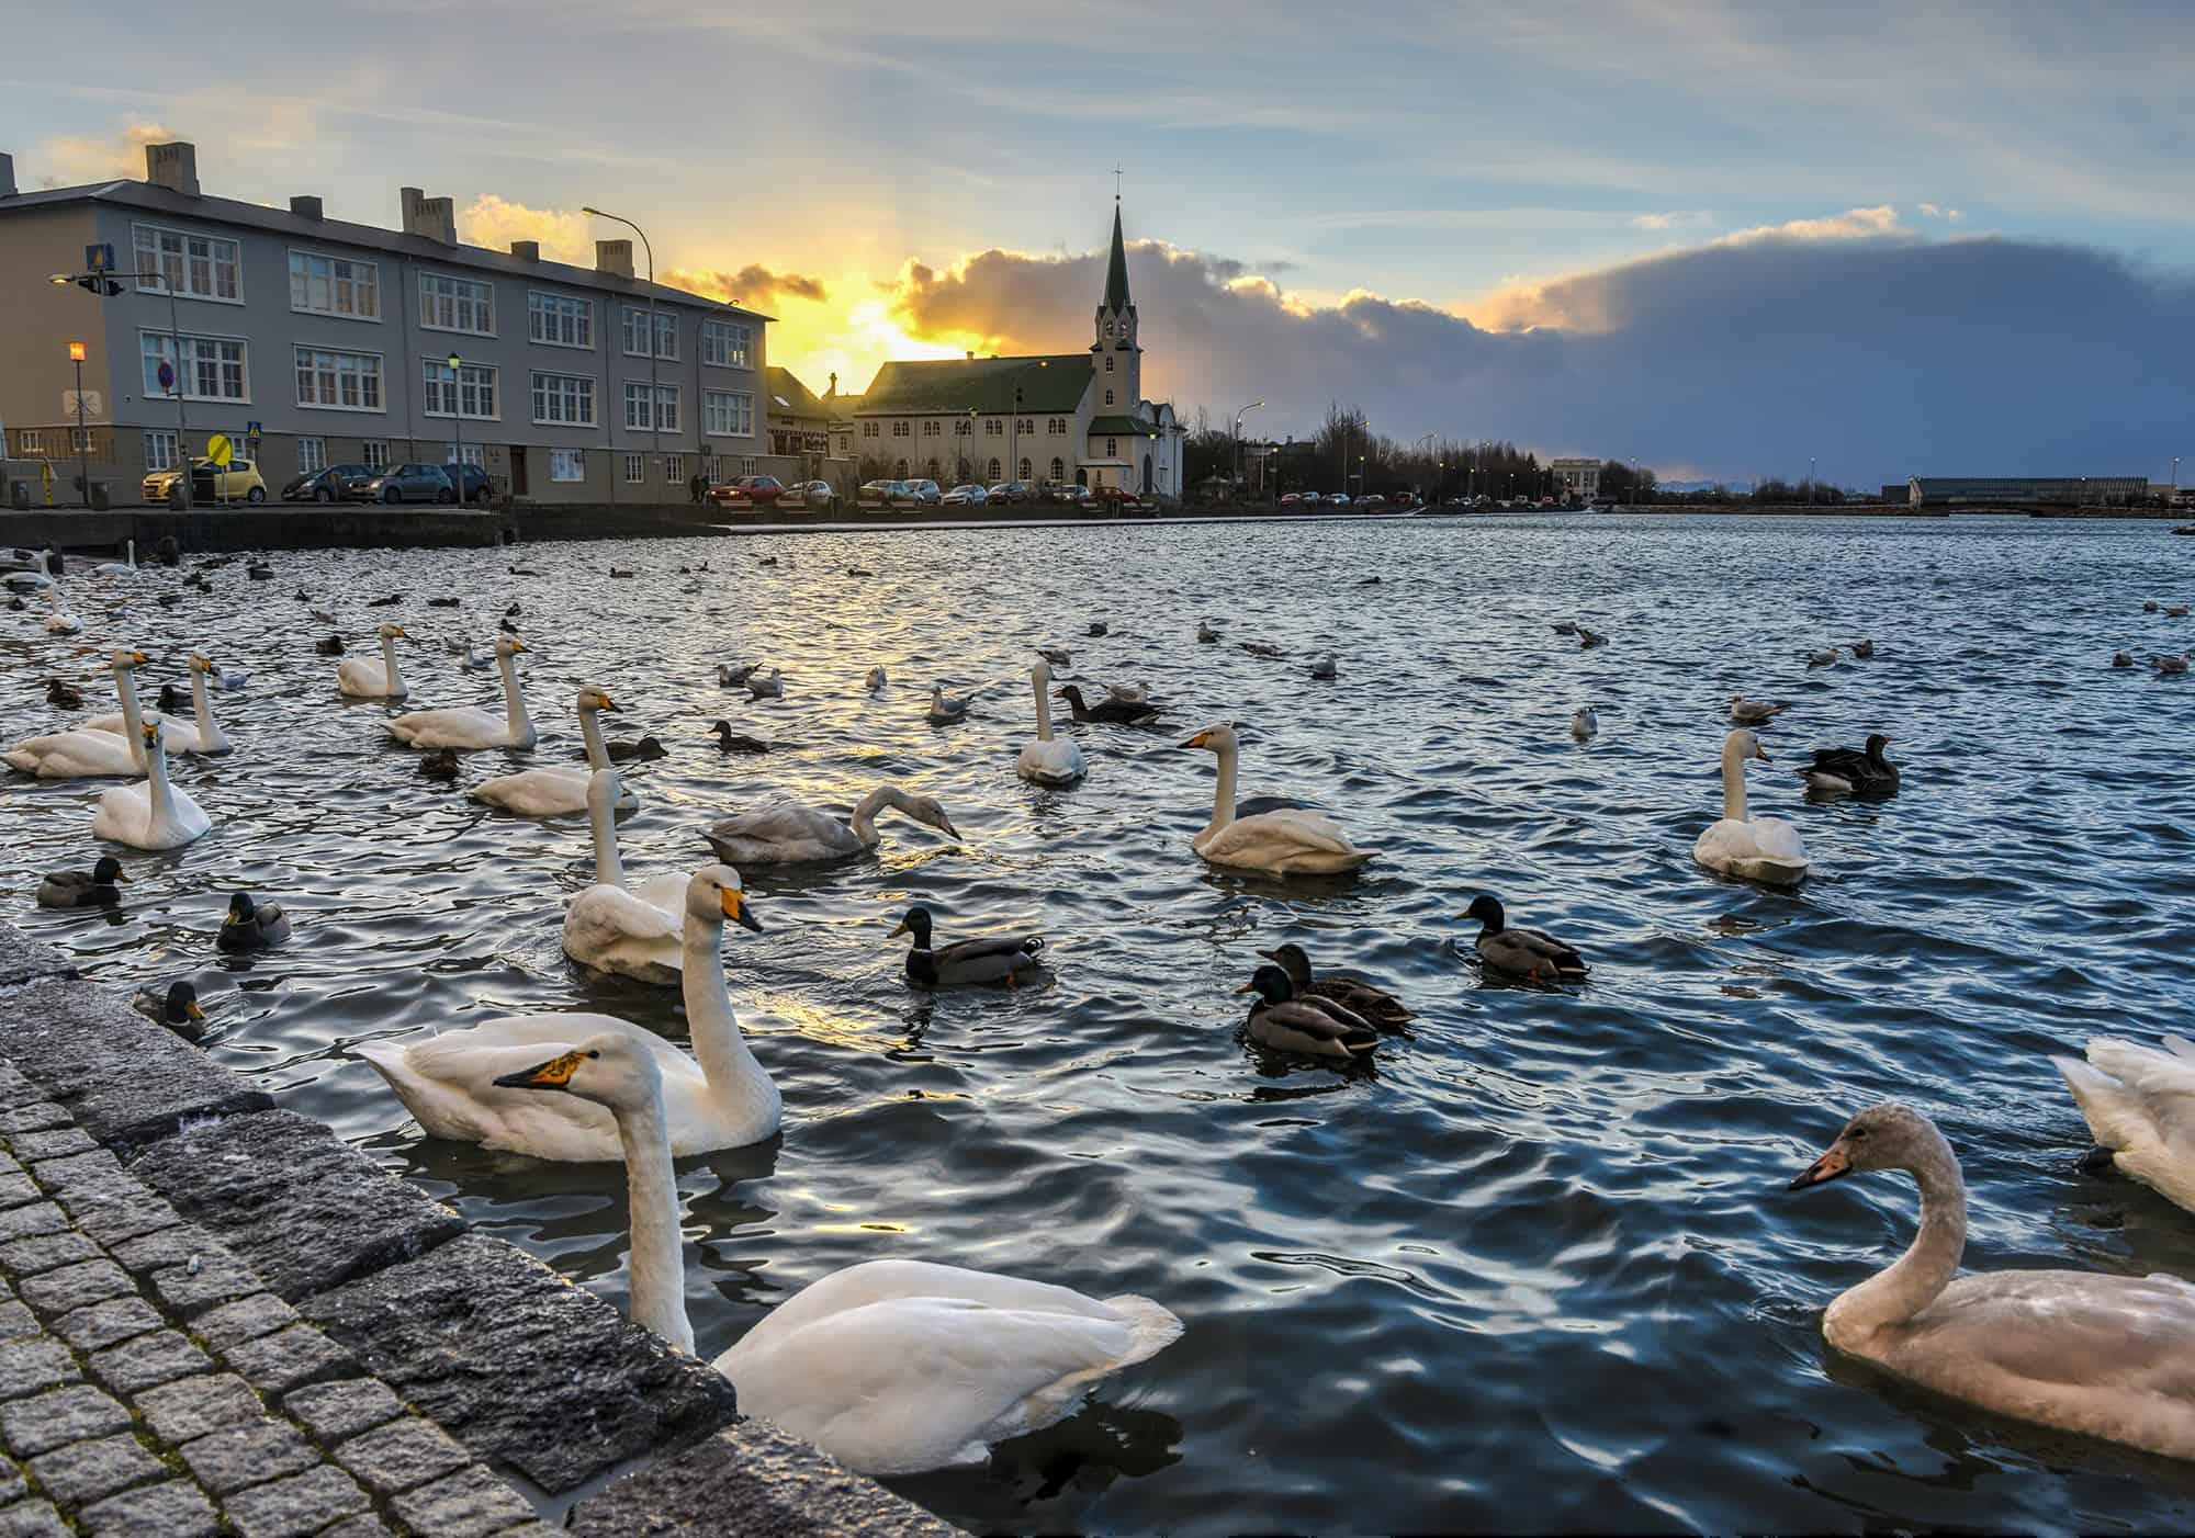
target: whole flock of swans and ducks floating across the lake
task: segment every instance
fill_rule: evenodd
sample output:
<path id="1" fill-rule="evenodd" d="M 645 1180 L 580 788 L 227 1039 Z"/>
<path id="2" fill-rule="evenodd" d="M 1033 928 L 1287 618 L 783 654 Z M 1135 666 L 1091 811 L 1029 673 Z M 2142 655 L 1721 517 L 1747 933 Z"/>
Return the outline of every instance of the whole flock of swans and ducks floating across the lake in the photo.
<path id="1" fill-rule="evenodd" d="M 134 579 L 127 562 L 92 568 L 94 579 Z M 773 566 L 777 557 L 764 557 Z M 18 553 L 4 581 L 22 603 L 24 592 L 50 595 L 53 634 L 77 634 L 81 621 L 59 599 L 59 575 L 46 553 Z M 191 584 L 204 588 L 202 562 Z M 514 575 L 533 575 L 511 566 Z M 685 570 L 685 568 L 680 568 Z M 252 564 L 255 579 L 272 568 Z M 628 570 L 612 568 L 612 577 Z M 1374 579 L 1376 581 L 1376 579 Z M 171 595 L 160 595 L 167 603 Z M 299 601 L 309 603 L 305 592 Z M 378 599 L 391 606 L 397 599 Z M 457 599 L 430 599 L 454 606 Z M 2180 619 L 2186 606 L 2149 603 L 2149 612 Z M 527 713 L 516 658 L 529 647 L 514 623 L 511 603 L 492 654 L 454 645 L 461 667 L 494 667 L 503 702 L 496 709 L 457 706 L 404 711 L 386 720 L 386 735 L 419 750 L 424 772 L 454 777 L 457 755 L 476 750 L 531 750 L 538 733 Z M 334 617 L 314 610 L 316 619 Z M 1576 623 L 1556 623 L 1583 647 L 1607 636 Z M 1091 625 L 1104 634 L 1102 623 Z M 347 658 L 331 689 L 349 700 L 391 706 L 410 696 L 397 656 L 408 641 L 404 625 L 375 627 L 378 658 Z M 1214 645 L 1220 632 L 1198 623 L 1196 643 Z M 1277 647 L 1242 643 L 1262 656 Z M 340 656 L 338 636 L 320 643 Z M 1875 656 L 1872 641 L 1848 647 L 1855 660 Z M 1809 667 L 1839 663 L 1842 649 L 1809 654 Z M 1139 687 L 1108 689 L 1087 700 L 1078 685 L 1051 689 L 1051 667 L 1071 654 L 1040 647 L 1029 667 L 1036 735 L 1018 757 L 1021 779 L 1071 785 L 1089 772 L 1082 746 L 1054 731 L 1051 700 L 1069 704 L 1087 726 L 1150 726 L 1163 704 Z M 224 755 L 230 742 L 213 713 L 215 693 L 239 691 L 244 678 L 222 674 L 202 652 L 189 654 L 187 693 L 162 685 L 158 711 L 136 691 L 145 652 L 123 645 L 110 656 L 119 711 L 81 724 L 61 724 L 7 748 L 4 761 L 44 779 L 123 777 L 108 790 L 92 818 L 97 840 L 130 849 L 176 849 L 202 838 L 213 818 L 169 779 L 167 755 Z M 2131 658 L 2118 654 L 2114 667 Z M 2186 656 L 2158 656 L 2160 674 L 2186 671 Z M 1319 656 L 1313 678 L 1332 678 L 1337 660 Z M 753 698 L 781 698 L 779 669 L 722 665 L 722 687 L 744 687 Z M 863 689 L 880 693 L 889 678 L 871 667 Z M 81 689 L 50 680 L 48 700 L 61 711 L 83 709 Z M 935 724 L 968 717 L 968 700 L 931 689 L 926 717 Z M 1723 737 L 1723 814 L 1692 849 L 1708 871 L 1791 889 L 1804 882 L 1809 856 L 1800 829 L 1754 816 L 1747 803 L 1747 766 L 1769 753 L 1756 733 L 1787 706 L 1738 696 L 1730 702 L 1732 728 Z M 191 720 L 182 720 L 189 711 Z M 612 744 L 601 715 L 615 700 L 582 687 L 575 700 L 586 768 L 527 768 L 483 781 L 470 794 L 518 816 L 586 814 L 593 836 L 595 882 L 564 913 L 562 946 L 569 957 L 599 972 L 658 987 L 678 987 L 685 1000 L 691 1051 L 628 1020 L 553 1011 L 489 1020 L 428 1040 L 358 1047 L 404 1101 L 428 1136 L 479 1143 L 489 1150 L 551 1161 L 621 1161 L 630 1185 L 632 1316 L 683 1352 L 694 1352 L 685 1310 L 674 1158 L 744 1147 L 779 1128 L 779 1093 L 748 1049 L 724 976 L 724 926 L 759 930 L 740 871 L 847 860 L 880 840 L 876 818 L 891 810 L 946 838 L 959 838 L 953 818 L 931 796 L 880 785 L 852 816 L 779 801 L 720 818 L 702 838 L 716 862 L 691 873 L 665 871 L 628 878 L 619 860 L 617 814 L 637 796 L 617 772 L 619 761 L 661 757 L 654 737 Z M 1583 706 L 1572 735 L 1598 733 L 1598 715 Z M 716 722 L 727 753 L 766 753 L 768 744 Z M 1890 737 L 1875 733 L 1859 748 L 1822 748 L 1800 766 L 1806 796 L 1888 799 L 1901 788 L 1899 766 L 1886 757 Z M 1190 735 L 1190 750 L 1218 761 L 1212 818 L 1190 840 L 1190 851 L 1214 869 L 1293 882 L 1337 878 L 1376 858 L 1352 842 L 1330 816 L 1291 801 L 1238 803 L 1240 742 L 1234 724 L 1216 722 Z M 143 777 L 143 779 L 138 779 Z M 83 871 L 53 871 L 37 889 L 50 908 L 110 906 L 121 902 L 123 864 L 101 856 Z M 1512 926 L 1499 897 L 1479 893 L 1462 915 L 1479 924 L 1475 952 L 1488 972 L 1528 987 L 1589 987 L 1585 957 L 1550 932 Z M 290 939 L 290 917 L 279 902 L 235 893 L 217 943 L 250 952 Z M 1025 987 L 1045 979 L 1043 939 L 1005 935 L 935 943 L 937 917 L 922 906 L 904 913 L 893 935 L 909 935 L 907 981 L 924 989 Z M 1319 972 L 1302 946 L 1258 952 L 1242 994 L 1253 994 L 1245 1031 L 1271 1053 L 1321 1062 L 1350 1062 L 1381 1047 L 1414 1018 L 1409 1005 L 1378 983 L 1350 972 Z M 191 983 L 147 989 L 136 1007 L 191 1040 L 204 1011 Z M 2160 1047 L 2096 1038 L 2087 1058 L 2057 1058 L 2081 1115 L 2098 1141 L 2092 1158 L 2140 1180 L 2186 1211 L 2195 1211 L 2195 1042 L 2166 1036 Z M 2195 1459 L 2195 1286 L 2169 1275 L 2116 1277 L 2085 1270 L 1995 1270 L 1956 1275 L 1967 1237 L 1967 1202 L 1958 1158 L 1936 1126 L 1918 1110 L 1879 1104 L 1855 1115 L 1826 1152 L 1791 1189 L 1811 1189 L 1850 1174 L 1907 1172 L 1921 1191 L 1918 1235 L 1888 1270 L 1837 1297 L 1822 1319 L 1828 1343 L 1890 1373 L 2015 1420 L 2037 1422 L 2147 1452 Z M 832 1273 L 775 1308 L 713 1367 L 735 1384 L 748 1413 L 808 1437 L 847 1468 L 871 1474 L 911 1474 L 977 1463 L 992 1444 L 1038 1430 L 1076 1409 L 1098 1380 L 1166 1349 L 1181 1321 L 1161 1303 L 1117 1294 L 1106 1299 L 1010 1277 L 911 1259 L 876 1259 Z"/>

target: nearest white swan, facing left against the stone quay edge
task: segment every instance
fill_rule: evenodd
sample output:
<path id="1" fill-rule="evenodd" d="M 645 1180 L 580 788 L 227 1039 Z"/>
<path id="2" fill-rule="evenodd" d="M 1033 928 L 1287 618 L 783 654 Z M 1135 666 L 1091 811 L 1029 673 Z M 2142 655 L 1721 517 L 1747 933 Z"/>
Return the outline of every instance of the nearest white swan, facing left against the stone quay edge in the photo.
<path id="1" fill-rule="evenodd" d="M 498 1086 L 606 1106 L 617 1119 L 632 1319 L 691 1352 L 661 1058 L 623 1033 L 599 1036 Z M 1098 1301 L 988 1270 L 871 1259 L 779 1303 L 713 1367 L 731 1378 L 742 1413 L 856 1474 L 918 1474 L 981 1463 L 990 1444 L 1065 1420 L 1100 1378 L 1179 1336 L 1181 1321 L 1146 1297 Z"/>

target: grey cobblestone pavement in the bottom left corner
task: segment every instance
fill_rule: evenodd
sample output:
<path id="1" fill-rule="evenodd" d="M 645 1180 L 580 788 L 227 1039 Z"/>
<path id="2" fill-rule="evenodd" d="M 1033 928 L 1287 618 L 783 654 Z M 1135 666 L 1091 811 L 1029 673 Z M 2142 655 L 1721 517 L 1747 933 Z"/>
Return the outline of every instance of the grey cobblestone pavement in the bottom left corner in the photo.
<path id="1" fill-rule="evenodd" d="M 4 1060 L 0 1150 L 0 1538 L 547 1538 Z"/>

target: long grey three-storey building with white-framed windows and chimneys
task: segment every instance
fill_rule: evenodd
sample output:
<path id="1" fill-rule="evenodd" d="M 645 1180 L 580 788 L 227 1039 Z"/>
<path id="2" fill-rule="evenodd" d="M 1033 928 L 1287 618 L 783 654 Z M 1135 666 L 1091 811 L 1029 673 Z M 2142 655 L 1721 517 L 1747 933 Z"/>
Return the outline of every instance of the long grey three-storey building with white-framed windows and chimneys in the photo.
<path id="1" fill-rule="evenodd" d="M 187 143 L 147 145 L 143 182 L 46 191 L 0 154 L 4 454 L 81 445 L 119 502 L 213 432 L 270 491 L 463 456 L 536 502 L 683 502 L 696 472 L 773 470 L 770 316 L 634 276 L 628 239 L 577 268 L 536 241 L 463 246 L 452 200 L 415 186 L 399 213 L 384 230 L 318 197 L 211 197 Z M 101 261 L 121 294 L 50 281 Z"/>

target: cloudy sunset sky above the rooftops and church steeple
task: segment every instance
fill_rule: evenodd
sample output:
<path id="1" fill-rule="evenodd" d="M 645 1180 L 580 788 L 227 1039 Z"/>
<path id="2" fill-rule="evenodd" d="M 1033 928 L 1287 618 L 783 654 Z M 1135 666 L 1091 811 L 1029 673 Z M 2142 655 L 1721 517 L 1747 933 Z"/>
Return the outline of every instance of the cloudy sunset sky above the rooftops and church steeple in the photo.
<path id="1" fill-rule="evenodd" d="M 797 11 L 797 13 L 795 13 Z M 777 316 L 823 391 L 1089 342 L 1115 189 L 1144 388 L 1330 402 L 1664 480 L 2195 480 L 2186 4 L 112 0 L 0 18 L 22 186 L 143 176 Z M 1115 180 L 1115 169 L 1119 178 Z"/>

